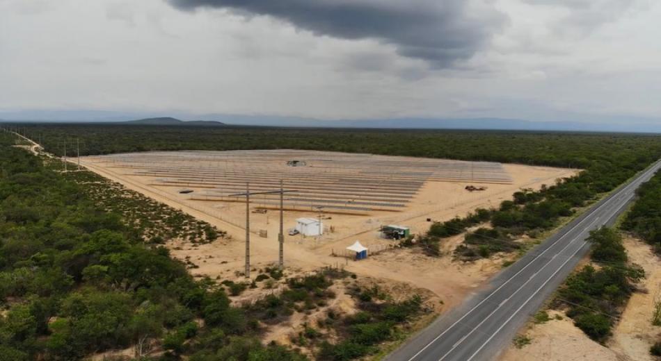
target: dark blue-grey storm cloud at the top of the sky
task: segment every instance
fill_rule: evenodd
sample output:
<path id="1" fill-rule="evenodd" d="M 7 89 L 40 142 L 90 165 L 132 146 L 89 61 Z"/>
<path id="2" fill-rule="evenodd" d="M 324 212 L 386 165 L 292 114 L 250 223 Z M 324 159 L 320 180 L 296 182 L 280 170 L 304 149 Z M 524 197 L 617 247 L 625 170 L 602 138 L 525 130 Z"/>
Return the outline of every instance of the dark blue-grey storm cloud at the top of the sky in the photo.
<path id="1" fill-rule="evenodd" d="M 469 11 L 466 0 L 169 0 L 177 8 L 228 8 L 269 15 L 319 35 L 373 38 L 402 56 L 449 67 L 470 58 L 504 23 L 491 6 Z"/>

